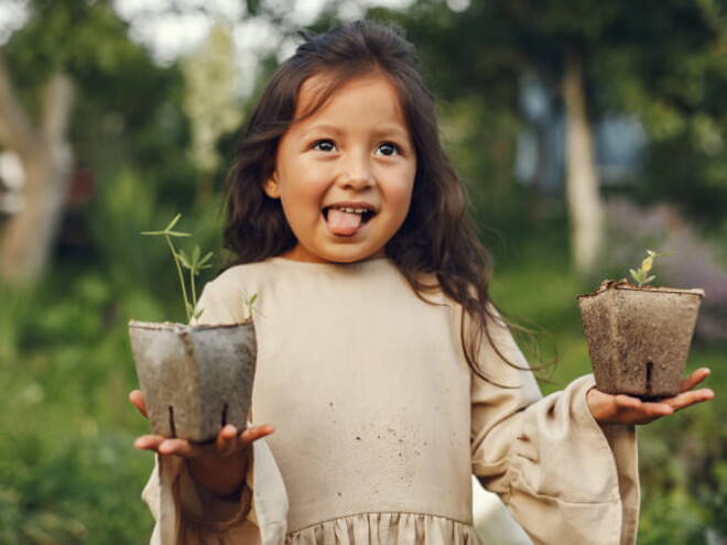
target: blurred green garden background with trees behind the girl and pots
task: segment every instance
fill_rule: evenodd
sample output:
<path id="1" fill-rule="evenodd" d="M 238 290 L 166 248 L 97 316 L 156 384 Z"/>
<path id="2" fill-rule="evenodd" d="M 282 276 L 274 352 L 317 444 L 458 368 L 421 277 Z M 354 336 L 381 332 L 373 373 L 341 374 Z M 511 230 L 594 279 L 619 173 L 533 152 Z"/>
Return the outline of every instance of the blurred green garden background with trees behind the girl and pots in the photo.
<path id="1" fill-rule="evenodd" d="M 718 400 L 640 428 L 638 543 L 726 543 L 724 0 L 0 0 L 0 543 L 148 541 L 126 327 L 184 307 L 139 232 L 182 212 L 223 264 L 251 103 L 299 30 L 360 17 L 419 47 L 492 296 L 557 358 L 545 392 L 589 372 L 576 295 L 647 249 L 705 290 L 687 366 Z"/>

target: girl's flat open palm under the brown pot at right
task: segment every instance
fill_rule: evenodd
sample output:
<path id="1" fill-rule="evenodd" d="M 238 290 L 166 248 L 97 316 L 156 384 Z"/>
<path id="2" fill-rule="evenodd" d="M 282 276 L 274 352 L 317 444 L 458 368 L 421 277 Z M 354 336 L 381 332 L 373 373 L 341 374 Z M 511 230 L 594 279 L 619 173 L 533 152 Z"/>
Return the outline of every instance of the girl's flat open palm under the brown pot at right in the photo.
<path id="1" fill-rule="evenodd" d="M 707 388 L 693 390 L 709 375 L 709 372 L 707 368 L 697 369 L 682 381 L 680 393 L 658 402 L 641 401 L 623 394 L 607 394 L 594 388 L 587 394 L 588 408 L 600 425 L 649 424 L 682 408 L 712 400 L 715 396 L 712 390 Z"/>

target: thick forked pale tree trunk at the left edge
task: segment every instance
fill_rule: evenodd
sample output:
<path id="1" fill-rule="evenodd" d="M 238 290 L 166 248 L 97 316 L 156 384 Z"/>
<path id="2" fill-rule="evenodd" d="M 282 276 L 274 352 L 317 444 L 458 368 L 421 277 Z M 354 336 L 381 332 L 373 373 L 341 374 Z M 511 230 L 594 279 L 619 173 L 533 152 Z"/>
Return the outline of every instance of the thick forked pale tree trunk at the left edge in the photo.
<path id="1" fill-rule="evenodd" d="M 24 206 L 0 232 L 0 277 L 11 285 L 35 282 L 53 251 L 73 166 L 66 138 L 72 103 L 70 78 L 54 74 L 33 127 L 0 58 L 0 146 L 15 151 L 25 170 Z"/>

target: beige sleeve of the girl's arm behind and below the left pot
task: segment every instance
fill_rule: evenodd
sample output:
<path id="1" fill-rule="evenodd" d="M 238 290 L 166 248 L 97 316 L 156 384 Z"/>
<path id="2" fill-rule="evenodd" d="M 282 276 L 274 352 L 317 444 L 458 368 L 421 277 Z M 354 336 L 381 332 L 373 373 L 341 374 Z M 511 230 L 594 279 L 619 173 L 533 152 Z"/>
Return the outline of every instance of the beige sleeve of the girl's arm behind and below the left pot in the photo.
<path id="1" fill-rule="evenodd" d="M 245 299 L 206 288 L 200 325 L 234 324 L 245 318 Z M 256 486 L 257 483 L 262 483 Z M 279 545 L 286 532 L 287 498 L 278 466 L 264 439 L 252 445 L 246 484 L 239 500 L 216 498 L 196 486 L 185 460 L 156 456 L 144 491 L 156 524 L 152 545 Z"/>

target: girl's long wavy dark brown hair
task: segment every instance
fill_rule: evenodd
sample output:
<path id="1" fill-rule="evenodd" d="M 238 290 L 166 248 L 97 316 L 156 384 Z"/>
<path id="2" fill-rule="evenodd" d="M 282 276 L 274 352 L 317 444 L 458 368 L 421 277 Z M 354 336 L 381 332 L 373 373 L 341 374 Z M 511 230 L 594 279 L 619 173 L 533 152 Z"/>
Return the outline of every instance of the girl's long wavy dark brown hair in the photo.
<path id="1" fill-rule="evenodd" d="M 262 183 L 273 173 L 278 143 L 294 121 L 303 83 L 327 76 L 327 87 L 305 112 L 311 116 L 351 78 L 383 74 L 398 90 L 416 151 L 411 208 L 386 253 L 422 298 L 441 287 L 462 305 L 463 318 L 474 326 L 462 328 L 464 352 L 484 375 L 477 359 L 482 335 L 489 336 L 490 258 L 468 220 L 462 183 L 442 149 L 434 100 L 413 45 L 398 31 L 370 21 L 304 37 L 273 74 L 242 132 L 227 187 L 225 247 L 237 255 L 230 265 L 280 255 L 296 243 L 280 200 L 268 197 Z M 436 275 L 438 286 L 426 283 L 423 273 Z"/>

